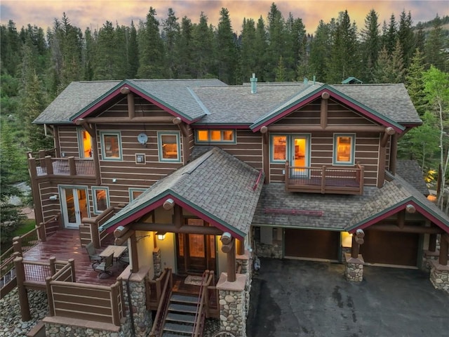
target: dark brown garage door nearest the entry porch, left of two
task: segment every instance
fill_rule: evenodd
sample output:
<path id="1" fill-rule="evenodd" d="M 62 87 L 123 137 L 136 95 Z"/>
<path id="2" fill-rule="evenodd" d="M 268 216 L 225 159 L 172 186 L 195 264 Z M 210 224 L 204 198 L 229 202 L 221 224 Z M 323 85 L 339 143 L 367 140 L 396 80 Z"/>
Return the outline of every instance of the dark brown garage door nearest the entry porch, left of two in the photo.
<path id="1" fill-rule="evenodd" d="M 286 257 L 338 260 L 340 232 L 286 229 Z"/>

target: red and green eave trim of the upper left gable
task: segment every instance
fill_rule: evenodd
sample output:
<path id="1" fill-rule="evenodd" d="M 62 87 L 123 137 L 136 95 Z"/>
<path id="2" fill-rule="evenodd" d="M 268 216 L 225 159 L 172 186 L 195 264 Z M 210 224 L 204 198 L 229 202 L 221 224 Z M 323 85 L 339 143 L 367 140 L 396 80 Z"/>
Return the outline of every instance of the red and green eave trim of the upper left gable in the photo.
<path id="1" fill-rule="evenodd" d="M 80 110 L 72 117 L 70 117 L 70 121 L 75 123 L 77 119 L 88 117 L 89 114 L 99 110 L 100 107 L 105 105 L 110 100 L 117 98 L 119 95 L 123 95 L 123 93 L 121 93 L 121 88 L 125 87 L 128 88 L 130 92 L 135 93 L 136 95 L 139 95 L 142 98 L 145 98 L 148 102 L 153 103 L 157 107 L 160 107 L 162 110 L 168 112 L 169 114 L 172 114 L 173 117 L 180 117 L 180 119 L 187 124 L 192 124 L 206 115 L 205 113 L 202 117 L 192 119 L 189 116 L 187 116 L 187 114 L 184 114 L 180 110 L 177 110 L 175 107 L 172 107 L 168 103 L 163 102 L 163 100 L 160 100 L 159 98 L 156 98 L 156 96 L 147 93 L 141 88 L 138 88 L 137 86 L 135 86 L 135 84 L 132 84 L 130 81 L 124 80 L 121 81 L 121 83 L 114 86 L 114 88 L 112 88 L 111 90 L 107 91 L 105 94 L 101 95 L 99 98 L 94 100 L 91 104 L 87 105 L 82 110 Z"/>

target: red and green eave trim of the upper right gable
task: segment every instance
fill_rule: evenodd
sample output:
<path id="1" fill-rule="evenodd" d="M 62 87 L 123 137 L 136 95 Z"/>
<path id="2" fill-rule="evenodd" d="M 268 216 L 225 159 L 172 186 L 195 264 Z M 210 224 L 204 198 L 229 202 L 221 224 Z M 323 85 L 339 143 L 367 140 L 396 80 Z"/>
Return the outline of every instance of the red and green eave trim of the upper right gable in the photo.
<path id="1" fill-rule="evenodd" d="M 370 107 L 367 107 L 366 105 L 359 103 L 358 101 L 350 98 L 349 96 L 344 95 L 344 93 L 337 91 L 335 88 L 328 86 L 328 84 L 325 84 L 323 86 L 320 86 L 319 88 L 316 88 L 314 91 L 311 91 L 311 93 L 304 95 L 304 97 L 299 98 L 295 102 L 290 103 L 286 107 L 281 107 L 277 111 L 274 110 L 274 112 L 270 112 L 269 114 L 266 115 L 266 117 L 262 117 L 262 119 L 256 121 L 253 125 L 251 125 L 250 126 L 251 130 L 253 130 L 253 132 L 260 131 L 260 128 L 262 128 L 262 126 L 269 126 L 270 124 L 279 121 L 279 119 L 288 116 L 288 114 L 290 114 L 291 112 L 300 109 L 301 107 L 304 107 L 305 105 L 311 103 L 313 100 L 316 100 L 317 98 L 320 98 L 321 94 L 324 92 L 329 93 L 330 98 L 333 98 L 337 102 L 347 105 L 349 108 L 353 109 L 354 111 L 360 114 L 363 114 L 363 116 L 372 119 L 378 124 L 381 124 L 386 128 L 387 127 L 394 128 L 394 131 L 396 131 L 396 133 L 402 133 L 406 129 L 404 126 L 398 124 L 396 121 L 389 119 L 383 114 L 380 114 L 379 112 L 370 109 Z"/>

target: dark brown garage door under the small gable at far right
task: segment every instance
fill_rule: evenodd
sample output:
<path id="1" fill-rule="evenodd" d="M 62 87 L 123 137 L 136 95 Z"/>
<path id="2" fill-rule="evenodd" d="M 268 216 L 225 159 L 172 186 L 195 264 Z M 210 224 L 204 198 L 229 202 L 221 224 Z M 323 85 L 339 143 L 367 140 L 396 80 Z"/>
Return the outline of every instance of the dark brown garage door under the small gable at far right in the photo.
<path id="1" fill-rule="evenodd" d="M 366 230 L 360 253 L 366 263 L 417 265 L 420 234 Z"/>

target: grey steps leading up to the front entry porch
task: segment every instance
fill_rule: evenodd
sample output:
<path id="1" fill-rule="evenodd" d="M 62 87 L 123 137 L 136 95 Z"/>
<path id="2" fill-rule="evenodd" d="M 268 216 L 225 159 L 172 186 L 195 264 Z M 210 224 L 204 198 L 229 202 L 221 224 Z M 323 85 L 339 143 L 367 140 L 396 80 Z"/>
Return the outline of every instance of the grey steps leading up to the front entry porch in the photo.
<path id="1" fill-rule="evenodd" d="M 173 293 L 162 337 L 192 336 L 198 300 L 197 296 Z"/>

